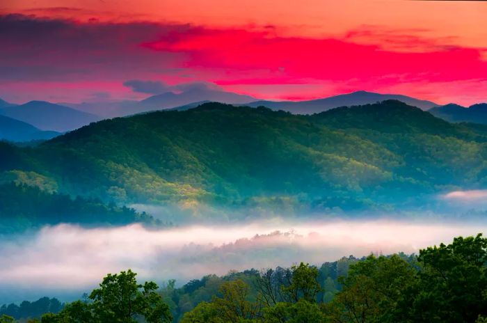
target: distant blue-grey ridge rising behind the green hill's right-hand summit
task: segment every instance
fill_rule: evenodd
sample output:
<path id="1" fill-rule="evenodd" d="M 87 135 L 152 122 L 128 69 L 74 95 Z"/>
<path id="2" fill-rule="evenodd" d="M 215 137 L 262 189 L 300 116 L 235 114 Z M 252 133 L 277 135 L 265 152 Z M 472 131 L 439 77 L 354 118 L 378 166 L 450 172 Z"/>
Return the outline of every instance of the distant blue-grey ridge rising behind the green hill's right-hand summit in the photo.
<path id="1" fill-rule="evenodd" d="M 333 97 L 326 97 L 324 99 L 309 101 L 256 101 L 246 105 L 248 105 L 249 107 L 264 106 L 268 107 L 269 109 L 289 111 L 295 114 L 312 114 L 327 111 L 329 109 L 334 109 L 337 107 L 350 107 L 353 105 L 373 104 L 385 100 L 398 100 L 423 110 L 428 110 L 438 105 L 434 102 L 417 100 L 414 97 L 407 97 L 406 95 L 379 94 L 367 91 L 358 91 L 349 94 L 335 95 Z"/>

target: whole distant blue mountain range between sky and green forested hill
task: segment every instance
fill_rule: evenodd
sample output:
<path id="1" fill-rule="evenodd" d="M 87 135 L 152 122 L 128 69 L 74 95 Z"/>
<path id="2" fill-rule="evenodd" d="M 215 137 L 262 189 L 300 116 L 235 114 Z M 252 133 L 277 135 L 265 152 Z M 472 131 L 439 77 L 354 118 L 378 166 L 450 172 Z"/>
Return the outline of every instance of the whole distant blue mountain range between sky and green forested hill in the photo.
<path id="1" fill-rule="evenodd" d="M 374 104 L 384 100 L 399 100 L 413 107 L 429 111 L 434 116 L 450 122 L 487 123 L 487 104 L 474 104 L 470 108 L 457 104 L 438 104 L 426 100 L 418 100 L 405 95 L 380 94 L 357 91 L 344 95 L 335 95 L 317 100 L 307 101 L 266 101 L 257 100 L 249 95 L 240 95 L 216 88 L 188 88 L 179 93 L 167 92 L 152 95 L 141 101 L 84 102 L 81 104 L 53 104 L 43 101 L 31 101 L 25 104 L 11 104 L 0 100 L 0 115 L 29 123 L 42 131 L 67 132 L 88 125 L 104 118 L 130 116 L 162 109 L 179 111 L 192 109 L 205 102 L 223 102 L 227 104 L 246 105 L 247 107 L 268 107 L 273 110 L 289 111 L 294 114 L 312 114 L 328 111 L 337 107 Z M 11 121 L 10 121 L 11 122 Z M 35 134 L 34 129 L 20 127 L 13 134 L 5 126 L 0 139 L 24 141 L 30 139 L 49 139 L 54 132 Z M 25 126 L 25 125 L 24 125 Z M 25 134 L 22 132 L 25 131 Z M 10 132 L 11 134 L 7 134 Z"/>

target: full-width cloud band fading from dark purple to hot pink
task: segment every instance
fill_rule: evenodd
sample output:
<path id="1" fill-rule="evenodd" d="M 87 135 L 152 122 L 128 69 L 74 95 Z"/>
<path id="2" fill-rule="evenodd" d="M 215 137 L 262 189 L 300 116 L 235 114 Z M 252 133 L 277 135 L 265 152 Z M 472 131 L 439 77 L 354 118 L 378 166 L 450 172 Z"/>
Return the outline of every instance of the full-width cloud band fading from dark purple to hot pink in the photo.
<path id="1" fill-rule="evenodd" d="M 0 97 L 17 101 L 27 87 L 40 93 L 36 99 L 60 97 L 58 84 L 70 88 L 70 101 L 101 91 L 129 98 L 133 93 L 121 86 L 129 79 L 210 81 L 256 97 L 294 100 L 352 90 L 440 103 L 487 100 L 486 49 L 446 45 L 449 38 L 427 38 L 423 30 L 362 26 L 341 37 L 305 38 L 282 36 L 276 26 L 211 29 L 26 15 L 0 16 L 0 29 L 6 31 L 0 33 Z M 95 81 L 101 88 L 90 85 Z"/>

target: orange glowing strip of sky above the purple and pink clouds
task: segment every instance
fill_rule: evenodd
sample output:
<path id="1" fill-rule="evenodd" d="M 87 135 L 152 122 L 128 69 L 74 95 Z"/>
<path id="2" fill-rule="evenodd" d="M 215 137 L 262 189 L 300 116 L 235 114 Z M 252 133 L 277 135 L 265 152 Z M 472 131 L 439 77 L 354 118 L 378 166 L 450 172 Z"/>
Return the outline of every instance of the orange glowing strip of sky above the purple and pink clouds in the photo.
<path id="1" fill-rule="evenodd" d="M 3 12 L 102 21 L 150 20 L 212 27 L 278 26 L 282 36 L 340 36 L 369 26 L 487 47 L 482 1 L 408 0 L 6 0 Z M 0 7 L 1 9 L 1 7 Z M 76 9 L 76 10 L 73 10 Z"/>

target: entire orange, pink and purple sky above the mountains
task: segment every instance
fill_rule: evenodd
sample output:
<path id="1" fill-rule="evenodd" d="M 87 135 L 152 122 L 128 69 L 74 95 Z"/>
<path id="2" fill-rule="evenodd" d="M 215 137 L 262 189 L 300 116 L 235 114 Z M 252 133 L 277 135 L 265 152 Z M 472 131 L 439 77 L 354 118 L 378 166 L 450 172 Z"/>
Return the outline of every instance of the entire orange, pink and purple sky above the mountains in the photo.
<path id="1" fill-rule="evenodd" d="M 3 0 L 0 97 L 140 100 L 127 81 L 271 100 L 487 101 L 487 1 Z"/>

